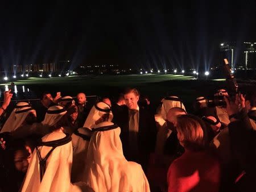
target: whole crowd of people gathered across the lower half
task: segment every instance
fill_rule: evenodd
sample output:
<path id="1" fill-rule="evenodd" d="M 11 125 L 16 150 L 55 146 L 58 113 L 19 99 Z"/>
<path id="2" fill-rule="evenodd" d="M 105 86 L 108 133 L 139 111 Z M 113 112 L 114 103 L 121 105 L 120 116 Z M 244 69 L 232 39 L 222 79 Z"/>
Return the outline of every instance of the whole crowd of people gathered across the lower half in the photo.
<path id="1" fill-rule="evenodd" d="M 256 191 L 256 91 L 220 94 L 221 105 L 198 97 L 188 113 L 171 95 L 154 111 L 135 88 L 92 107 L 85 93 L 44 92 L 8 114 L 5 91 L 0 192 Z"/>

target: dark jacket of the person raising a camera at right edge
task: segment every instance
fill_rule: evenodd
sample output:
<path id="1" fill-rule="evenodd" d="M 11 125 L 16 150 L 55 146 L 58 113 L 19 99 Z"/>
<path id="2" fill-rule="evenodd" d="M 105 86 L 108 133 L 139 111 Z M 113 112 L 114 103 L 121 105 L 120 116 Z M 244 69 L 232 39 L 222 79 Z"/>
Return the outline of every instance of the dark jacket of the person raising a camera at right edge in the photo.
<path id="1" fill-rule="evenodd" d="M 240 169 L 246 172 L 240 182 L 242 191 L 256 191 L 256 131 L 244 109 L 239 117 L 239 120 L 228 126 L 230 144 Z"/>

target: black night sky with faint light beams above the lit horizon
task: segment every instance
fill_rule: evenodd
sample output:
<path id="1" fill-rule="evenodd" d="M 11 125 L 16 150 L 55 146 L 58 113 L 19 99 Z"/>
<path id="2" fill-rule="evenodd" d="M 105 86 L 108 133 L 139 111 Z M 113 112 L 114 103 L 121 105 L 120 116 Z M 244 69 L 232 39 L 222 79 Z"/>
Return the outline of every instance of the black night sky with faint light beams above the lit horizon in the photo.
<path id="1" fill-rule="evenodd" d="M 222 41 L 256 41 L 255 8 L 246 0 L 2 3 L 0 64 L 210 66 Z"/>

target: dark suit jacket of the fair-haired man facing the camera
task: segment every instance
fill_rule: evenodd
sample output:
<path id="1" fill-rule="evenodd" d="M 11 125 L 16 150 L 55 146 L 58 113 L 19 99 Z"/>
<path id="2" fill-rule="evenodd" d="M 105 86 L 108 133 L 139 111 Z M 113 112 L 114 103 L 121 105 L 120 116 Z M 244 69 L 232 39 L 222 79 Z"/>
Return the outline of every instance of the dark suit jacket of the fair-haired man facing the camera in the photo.
<path id="1" fill-rule="evenodd" d="M 118 114 L 114 112 L 113 122 L 121 128 L 121 140 L 123 145 L 123 153 L 129 160 L 129 110 L 123 106 Z M 139 152 L 148 154 L 154 151 L 156 141 L 156 125 L 154 115 L 139 108 L 139 132 L 138 132 L 138 148 Z"/>

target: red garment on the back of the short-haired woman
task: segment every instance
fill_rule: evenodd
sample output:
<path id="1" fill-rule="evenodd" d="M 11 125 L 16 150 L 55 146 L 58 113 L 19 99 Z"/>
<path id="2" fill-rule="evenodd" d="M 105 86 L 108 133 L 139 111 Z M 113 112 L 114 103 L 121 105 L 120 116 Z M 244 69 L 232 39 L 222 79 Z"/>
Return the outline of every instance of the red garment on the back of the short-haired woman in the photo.
<path id="1" fill-rule="evenodd" d="M 220 164 L 207 151 L 185 153 L 172 162 L 168 173 L 168 192 L 217 192 Z"/>

